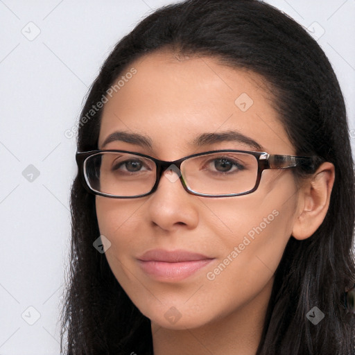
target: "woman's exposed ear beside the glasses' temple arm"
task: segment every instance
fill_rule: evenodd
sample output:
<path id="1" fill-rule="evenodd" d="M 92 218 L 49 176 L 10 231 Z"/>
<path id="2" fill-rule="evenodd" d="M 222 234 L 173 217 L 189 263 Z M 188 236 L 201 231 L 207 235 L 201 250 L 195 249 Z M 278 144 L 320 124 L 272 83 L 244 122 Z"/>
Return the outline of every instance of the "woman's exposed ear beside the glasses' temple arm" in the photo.
<path id="1" fill-rule="evenodd" d="M 328 208 L 335 179 L 334 165 L 324 162 L 307 179 L 299 191 L 292 236 L 303 240 L 309 238 L 322 224 Z"/>

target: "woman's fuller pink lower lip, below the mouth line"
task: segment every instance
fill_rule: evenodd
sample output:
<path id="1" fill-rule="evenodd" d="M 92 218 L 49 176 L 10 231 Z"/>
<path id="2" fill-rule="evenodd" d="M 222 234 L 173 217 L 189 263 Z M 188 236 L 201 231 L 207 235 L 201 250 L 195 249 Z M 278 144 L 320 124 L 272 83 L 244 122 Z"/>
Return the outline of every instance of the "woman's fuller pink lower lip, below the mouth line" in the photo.
<path id="1" fill-rule="evenodd" d="M 186 279 L 200 270 L 214 259 L 195 261 L 182 261 L 180 263 L 167 263 L 163 261 L 141 261 L 139 265 L 148 275 L 164 281 L 179 281 Z"/>

